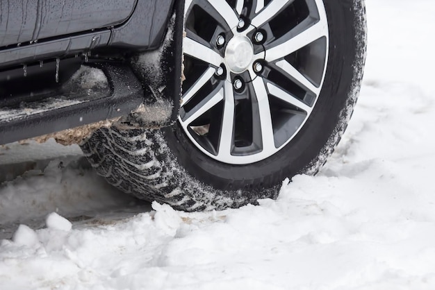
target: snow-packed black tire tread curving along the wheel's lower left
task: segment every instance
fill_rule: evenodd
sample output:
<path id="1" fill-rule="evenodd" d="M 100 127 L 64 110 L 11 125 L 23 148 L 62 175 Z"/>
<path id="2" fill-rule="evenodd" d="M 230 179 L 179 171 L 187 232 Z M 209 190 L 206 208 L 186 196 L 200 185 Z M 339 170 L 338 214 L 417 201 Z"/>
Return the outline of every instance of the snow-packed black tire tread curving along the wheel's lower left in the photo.
<path id="1" fill-rule="evenodd" d="M 279 187 L 222 191 L 199 182 L 177 162 L 161 130 L 101 128 L 81 146 L 111 185 L 186 211 L 222 210 L 277 195 Z"/>

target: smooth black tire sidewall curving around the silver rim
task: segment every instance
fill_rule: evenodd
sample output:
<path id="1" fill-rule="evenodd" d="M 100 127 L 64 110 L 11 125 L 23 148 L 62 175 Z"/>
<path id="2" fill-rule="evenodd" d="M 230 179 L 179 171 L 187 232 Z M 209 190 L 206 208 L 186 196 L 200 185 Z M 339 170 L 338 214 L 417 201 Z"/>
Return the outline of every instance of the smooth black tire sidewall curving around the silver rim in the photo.
<path id="1" fill-rule="evenodd" d="M 163 135 L 178 163 L 190 175 L 216 189 L 234 190 L 247 185 L 271 187 L 288 176 L 316 171 L 318 168 L 309 169 L 309 164 L 318 164 L 316 159 L 323 151 L 331 153 L 326 146 L 338 123 L 352 112 L 346 107 L 354 105 L 349 102 L 353 97 L 350 94 L 354 94 L 356 74 L 362 70 L 357 58 L 361 53 L 359 42 L 363 41 L 359 39 L 363 36 L 358 31 L 361 29 L 359 9 L 363 9 L 363 5 L 360 0 L 325 0 L 324 4 L 329 26 L 327 70 L 318 101 L 299 133 L 265 160 L 234 165 L 218 162 L 202 153 L 177 122 L 162 129 Z"/>

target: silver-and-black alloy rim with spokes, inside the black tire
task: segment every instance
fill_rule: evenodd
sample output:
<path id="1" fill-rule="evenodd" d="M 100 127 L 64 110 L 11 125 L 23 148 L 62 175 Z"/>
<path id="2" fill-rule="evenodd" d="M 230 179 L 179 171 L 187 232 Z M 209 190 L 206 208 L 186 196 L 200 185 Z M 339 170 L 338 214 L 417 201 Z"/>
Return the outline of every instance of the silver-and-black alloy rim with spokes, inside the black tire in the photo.
<path id="1" fill-rule="evenodd" d="M 279 152 L 309 119 L 325 78 L 322 0 L 193 0 L 185 19 L 179 124 L 188 138 L 227 164 Z"/>

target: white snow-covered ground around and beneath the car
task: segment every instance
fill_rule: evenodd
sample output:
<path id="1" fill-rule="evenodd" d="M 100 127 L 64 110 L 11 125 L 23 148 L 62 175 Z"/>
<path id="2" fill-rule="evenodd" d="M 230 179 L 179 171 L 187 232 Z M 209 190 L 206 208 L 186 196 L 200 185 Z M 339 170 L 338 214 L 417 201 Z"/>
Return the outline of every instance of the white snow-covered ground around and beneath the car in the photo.
<path id="1" fill-rule="evenodd" d="M 435 2 L 366 4 L 347 133 L 318 176 L 284 182 L 277 201 L 151 209 L 76 147 L 0 148 L 0 289 L 435 289 Z"/>

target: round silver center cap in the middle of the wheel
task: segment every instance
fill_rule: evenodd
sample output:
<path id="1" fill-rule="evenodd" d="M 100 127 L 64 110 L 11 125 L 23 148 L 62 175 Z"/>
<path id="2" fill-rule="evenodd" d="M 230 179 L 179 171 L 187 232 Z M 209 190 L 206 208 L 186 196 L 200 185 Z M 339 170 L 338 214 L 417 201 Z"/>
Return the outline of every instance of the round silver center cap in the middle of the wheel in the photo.
<path id="1" fill-rule="evenodd" d="M 243 35 L 233 37 L 225 49 L 225 62 L 229 70 L 235 74 L 243 73 L 251 65 L 254 58 L 254 46 L 251 40 Z"/>

